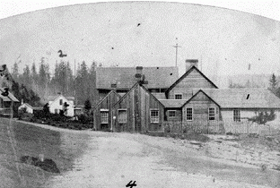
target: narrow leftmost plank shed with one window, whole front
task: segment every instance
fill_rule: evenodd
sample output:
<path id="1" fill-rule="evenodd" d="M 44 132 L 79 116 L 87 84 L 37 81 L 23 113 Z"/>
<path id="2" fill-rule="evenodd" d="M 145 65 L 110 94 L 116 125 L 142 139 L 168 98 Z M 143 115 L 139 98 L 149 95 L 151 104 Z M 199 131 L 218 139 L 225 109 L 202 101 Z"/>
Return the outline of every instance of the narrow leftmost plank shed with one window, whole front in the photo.
<path id="1" fill-rule="evenodd" d="M 119 98 L 121 97 L 116 92 L 116 90 L 111 90 L 95 107 L 93 107 L 92 112 L 94 130 L 112 131 L 111 109 Z"/>

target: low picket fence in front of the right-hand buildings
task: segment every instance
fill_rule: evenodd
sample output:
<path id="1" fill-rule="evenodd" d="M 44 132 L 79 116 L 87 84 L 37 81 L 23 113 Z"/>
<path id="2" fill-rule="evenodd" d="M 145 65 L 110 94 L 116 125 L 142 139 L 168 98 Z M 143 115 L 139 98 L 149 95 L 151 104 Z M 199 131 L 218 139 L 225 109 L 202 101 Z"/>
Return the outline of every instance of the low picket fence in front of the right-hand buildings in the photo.
<path id="1" fill-rule="evenodd" d="M 164 132 L 197 132 L 197 133 L 257 133 L 270 135 L 275 130 L 269 125 L 252 122 L 224 122 L 224 121 L 189 121 L 164 122 Z"/>

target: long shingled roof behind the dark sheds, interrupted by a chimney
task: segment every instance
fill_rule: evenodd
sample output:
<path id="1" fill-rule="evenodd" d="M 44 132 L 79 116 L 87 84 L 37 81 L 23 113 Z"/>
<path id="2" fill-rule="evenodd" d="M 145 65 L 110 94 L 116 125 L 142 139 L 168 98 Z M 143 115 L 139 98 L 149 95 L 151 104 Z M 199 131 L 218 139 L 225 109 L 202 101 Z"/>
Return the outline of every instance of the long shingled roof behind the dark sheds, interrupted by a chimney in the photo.
<path id="1" fill-rule="evenodd" d="M 143 67 L 148 89 L 169 88 L 179 77 L 178 67 Z M 97 67 L 96 88 L 110 89 L 117 83 L 118 89 L 130 89 L 136 83 L 136 67 Z"/>

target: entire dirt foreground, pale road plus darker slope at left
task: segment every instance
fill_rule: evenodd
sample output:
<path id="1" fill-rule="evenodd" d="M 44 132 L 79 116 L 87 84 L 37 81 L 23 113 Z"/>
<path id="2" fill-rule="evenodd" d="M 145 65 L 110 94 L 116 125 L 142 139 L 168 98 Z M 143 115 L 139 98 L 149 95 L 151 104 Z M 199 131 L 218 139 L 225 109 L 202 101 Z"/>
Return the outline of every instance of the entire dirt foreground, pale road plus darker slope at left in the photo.
<path id="1" fill-rule="evenodd" d="M 0 143 L 8 145 L 5 123 L 0 127 Z M 130 181 L 136 181 L 133 188 L 280 187 L 278 171 L 209 158 L 204 150 L 188 148 L 172 138 L 73 131 L 20 122 L 13 122 L 13 130 L 18 157 L 44 153 L 56 161 L 61 174 L 43 173 L 38 167 L 20 164 L 24 186 L 19 182 L 12 150 L 3 148 L 6 154 L 0 153 L 0 158 L 8 162 L 0 164 L 0 187 L 118 188 Z"/>

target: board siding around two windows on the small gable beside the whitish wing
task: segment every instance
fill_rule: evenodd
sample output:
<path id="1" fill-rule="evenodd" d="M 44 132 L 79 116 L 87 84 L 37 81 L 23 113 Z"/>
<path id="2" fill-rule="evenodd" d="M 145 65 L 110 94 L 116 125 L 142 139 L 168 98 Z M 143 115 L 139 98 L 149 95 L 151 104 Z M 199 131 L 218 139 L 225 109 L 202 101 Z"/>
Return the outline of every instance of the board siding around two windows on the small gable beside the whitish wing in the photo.
<path id="1" fill-rule="evenodd" d="M 187 120 L 187 107 L 193 107 L 193 121 L 208 121 L 208 107 L 215 107 L 215 120 L 220 119 L 220 109 L 211 98 L 199 92 L 188 104 L 183 107 L 183 121 Z"/>

